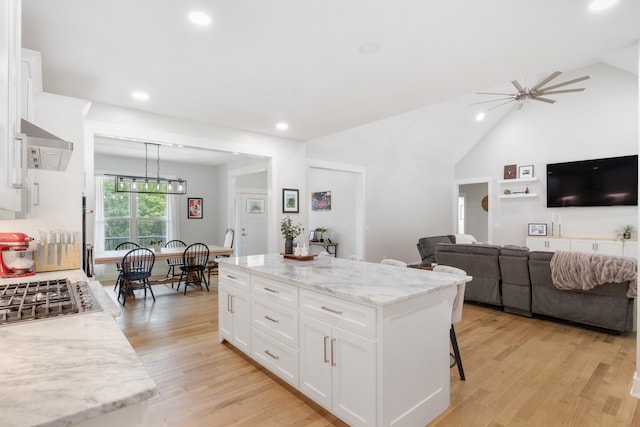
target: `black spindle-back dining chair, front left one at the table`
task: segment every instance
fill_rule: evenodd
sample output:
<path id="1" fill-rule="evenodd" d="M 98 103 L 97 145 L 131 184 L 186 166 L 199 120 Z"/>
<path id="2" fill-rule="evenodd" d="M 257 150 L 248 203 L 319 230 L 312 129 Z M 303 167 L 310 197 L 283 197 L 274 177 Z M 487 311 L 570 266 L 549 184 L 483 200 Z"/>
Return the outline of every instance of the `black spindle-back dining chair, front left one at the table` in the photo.
<path id="1" fill-rule="evenodd" d="M 122 306 L 127 303 L 129 293 L 138 289 L 144 289 L 145 298 L 147 297 L 147 289 L 149 289 L 155 302 L 156 296 L 153 294 L 153 289 L 151 289 L 151 284 L 149 283 L 155 260 L 155 254 L 151 249 L 147 248 L 132 249 L 122 258 L 122 279 L 118 290 L 118 301 L 122 296 Z"/>

